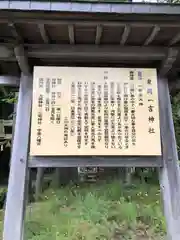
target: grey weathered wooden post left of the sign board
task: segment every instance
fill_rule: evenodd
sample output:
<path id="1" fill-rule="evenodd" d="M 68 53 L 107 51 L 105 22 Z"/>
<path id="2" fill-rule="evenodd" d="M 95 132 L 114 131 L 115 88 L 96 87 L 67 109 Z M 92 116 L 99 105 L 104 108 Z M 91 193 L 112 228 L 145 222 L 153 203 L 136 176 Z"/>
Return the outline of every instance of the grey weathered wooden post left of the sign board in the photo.
<path id="1" fill-rule="evenodd" d="M 12 148 L 3 240 L 21 240 L 25 214 L 32 77 L 22 74 Z"/>

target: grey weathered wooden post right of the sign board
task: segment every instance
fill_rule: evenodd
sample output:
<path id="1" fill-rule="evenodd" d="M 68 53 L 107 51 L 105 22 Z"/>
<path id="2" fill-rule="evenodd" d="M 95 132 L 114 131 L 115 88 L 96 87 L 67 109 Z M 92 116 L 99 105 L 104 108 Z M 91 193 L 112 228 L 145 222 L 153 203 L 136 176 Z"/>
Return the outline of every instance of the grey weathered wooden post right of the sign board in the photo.
<path id="1" fill-rule="evenodd" d="M 160 186 L 169 240 L 180 239 L 180 174 L 167 79 L 158 79 L 163 167 Z"/>

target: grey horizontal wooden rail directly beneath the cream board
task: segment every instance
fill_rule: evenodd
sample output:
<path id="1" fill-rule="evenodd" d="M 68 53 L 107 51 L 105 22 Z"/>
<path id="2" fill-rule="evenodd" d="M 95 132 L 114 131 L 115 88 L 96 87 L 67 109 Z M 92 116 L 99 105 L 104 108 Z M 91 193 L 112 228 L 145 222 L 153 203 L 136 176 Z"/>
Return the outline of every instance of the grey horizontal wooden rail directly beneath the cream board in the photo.
<path id="1" fill-rule="evenodd" d="M 36 157 L 30 156 L 29 167 L 160 167 L 161 157 Z"/>

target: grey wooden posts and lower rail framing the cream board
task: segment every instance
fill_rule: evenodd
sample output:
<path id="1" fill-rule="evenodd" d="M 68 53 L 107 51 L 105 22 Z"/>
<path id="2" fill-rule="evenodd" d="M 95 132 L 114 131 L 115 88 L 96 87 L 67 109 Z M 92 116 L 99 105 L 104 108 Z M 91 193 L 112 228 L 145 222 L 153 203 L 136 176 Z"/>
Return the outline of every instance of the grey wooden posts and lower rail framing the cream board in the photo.
<path id="1" fill-rule="evenodd" d="M 23 69 L 23 67 L 22 67 Z M 180 239 L 180 175 L 172 110 L 167 79 L 158 78 L 162 157 L 31 157 L 29 134 L 32 101 L 32 76 L 27 69 L 20 79 L 17 117 L 11 157 L 3 240 L 22 240 L 27 199 L 28 169 L 31 167 L 70 166 L 148 166 L 158 167 L 169 239 Z M 0 84 L 14 85 L 14 77 L 0 77 Z"/>

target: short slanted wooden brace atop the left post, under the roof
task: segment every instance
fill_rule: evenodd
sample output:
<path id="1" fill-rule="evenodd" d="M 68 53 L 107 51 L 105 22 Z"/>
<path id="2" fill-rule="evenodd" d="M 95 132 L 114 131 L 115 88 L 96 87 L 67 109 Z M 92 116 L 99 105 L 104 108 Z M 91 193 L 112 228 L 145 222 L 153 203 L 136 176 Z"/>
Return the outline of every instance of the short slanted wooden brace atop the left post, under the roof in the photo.
<path id="1" fill-rule="evenodd" d="M 31 74 L 30 66 L 28 64 L 28 58 L 24 51 L 23 45 L 16 46 L 14 48 L 14 53 L 15 53 L 15 56 L 16 56 L 16 59 L 17 59 L 17 62 L 18 62 L 21 72 L 24 75 L 30 75 Z"/>

